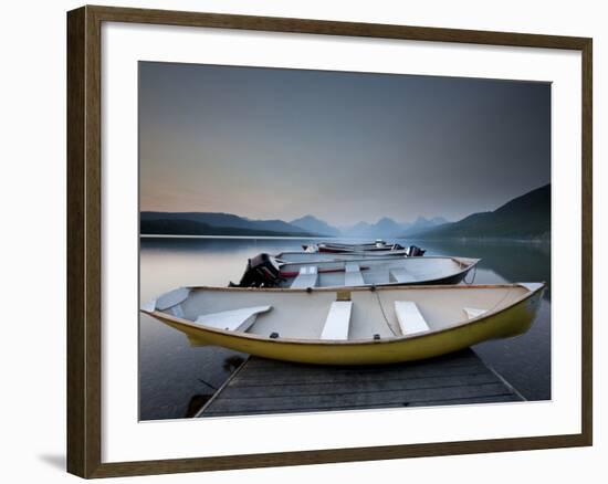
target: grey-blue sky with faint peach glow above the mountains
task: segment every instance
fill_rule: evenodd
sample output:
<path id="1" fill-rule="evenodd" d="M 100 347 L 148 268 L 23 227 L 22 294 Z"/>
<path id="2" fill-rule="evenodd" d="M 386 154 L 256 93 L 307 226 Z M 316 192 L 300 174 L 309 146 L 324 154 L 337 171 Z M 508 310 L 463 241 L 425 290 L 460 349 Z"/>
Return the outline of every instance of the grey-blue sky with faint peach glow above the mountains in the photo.
<path id="1" fill-rule="evenodd" d="M 551 181 L 551 84 L 139 63 L 140 210 L 459 220 Z"/>

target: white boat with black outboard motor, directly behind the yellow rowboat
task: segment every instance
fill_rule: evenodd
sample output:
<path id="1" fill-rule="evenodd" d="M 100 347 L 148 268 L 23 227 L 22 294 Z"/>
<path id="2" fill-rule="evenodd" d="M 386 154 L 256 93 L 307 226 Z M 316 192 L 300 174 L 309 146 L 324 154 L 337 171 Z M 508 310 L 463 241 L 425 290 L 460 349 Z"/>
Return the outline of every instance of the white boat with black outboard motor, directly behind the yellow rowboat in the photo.
<path id="1" fill-rule="evenodd" d="M 458 284 L 480 260 L 468 257 L 366 257 L 281 263 L 269 254 L 248 261 L 238 287 L 339 287 Z M 472 282 L 472 281 L 471 281 Z"/>

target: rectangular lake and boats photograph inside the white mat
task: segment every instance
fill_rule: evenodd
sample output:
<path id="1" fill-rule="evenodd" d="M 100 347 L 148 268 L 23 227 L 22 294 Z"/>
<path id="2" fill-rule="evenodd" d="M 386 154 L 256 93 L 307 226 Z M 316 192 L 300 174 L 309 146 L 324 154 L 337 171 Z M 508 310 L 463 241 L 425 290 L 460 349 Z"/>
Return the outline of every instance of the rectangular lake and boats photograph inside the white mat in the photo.
<path id="1" fill-rule="evenodd" d="M 137 69 L 140 421 L 552 399 L 551 82 Z"/>

